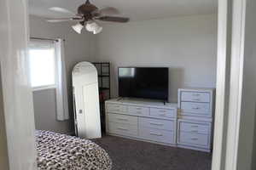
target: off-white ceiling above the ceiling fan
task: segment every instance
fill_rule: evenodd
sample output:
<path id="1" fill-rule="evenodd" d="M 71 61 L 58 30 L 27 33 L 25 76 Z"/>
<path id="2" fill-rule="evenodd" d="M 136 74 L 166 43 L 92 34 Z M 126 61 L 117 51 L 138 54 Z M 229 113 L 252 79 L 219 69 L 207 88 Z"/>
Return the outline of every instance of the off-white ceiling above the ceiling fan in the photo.
<path id="1" fill-rule="evenodd" d="M 83 0 L 29 0 L 30 14 L 42 17 L 63 17 L 50 11 L 50 7 L 67 8 L 76 12 Z M 214 14 L 217 12 L 218 0 L 90 0 L 97 7 L 119 8 L 123 16 L 131 20 L 152 20 L 172 16 L 195 14 Z"/>

